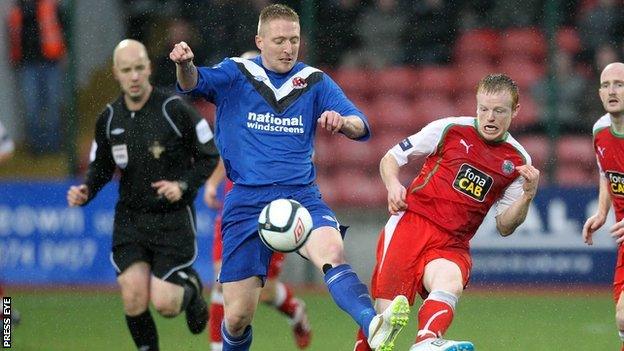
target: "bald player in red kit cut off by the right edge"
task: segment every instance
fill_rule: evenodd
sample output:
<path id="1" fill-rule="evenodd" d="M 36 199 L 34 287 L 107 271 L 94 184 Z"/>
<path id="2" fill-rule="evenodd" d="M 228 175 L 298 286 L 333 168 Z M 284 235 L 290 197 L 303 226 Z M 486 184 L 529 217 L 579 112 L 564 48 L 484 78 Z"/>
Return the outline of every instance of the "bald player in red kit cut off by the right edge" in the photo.
<path id="1" fill-rule="evenodd" d="M 607 112 L 594 124 L 594 151 L 600 171 L 598 210 L 583 226 L 583 240 L 592 244 L 592 236 L 605 224 L 613 204 L 616 223 L 609 232 L 618 245 L 613 276 L 615 321 L 624 351 L 624 63 L 607 65 L 600 75 L 598 90 Z"/>

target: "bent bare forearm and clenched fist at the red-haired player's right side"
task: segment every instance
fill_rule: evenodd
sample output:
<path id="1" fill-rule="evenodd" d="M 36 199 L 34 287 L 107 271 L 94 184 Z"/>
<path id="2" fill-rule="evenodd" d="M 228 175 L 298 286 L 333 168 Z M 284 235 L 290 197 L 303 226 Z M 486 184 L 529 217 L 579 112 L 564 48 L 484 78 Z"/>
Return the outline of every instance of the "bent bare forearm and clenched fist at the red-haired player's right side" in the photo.
<path id="1" fill-rule="evenodd" d="M 540 172 L 531 165 L 516 167 L 520 176 L 524 178 L 522 195 L 514 201 L 503 213 L 496 217 L 496 229 L 502 236 L 508 236 L 526 219 L 531 201 L 537 193 Z"/>

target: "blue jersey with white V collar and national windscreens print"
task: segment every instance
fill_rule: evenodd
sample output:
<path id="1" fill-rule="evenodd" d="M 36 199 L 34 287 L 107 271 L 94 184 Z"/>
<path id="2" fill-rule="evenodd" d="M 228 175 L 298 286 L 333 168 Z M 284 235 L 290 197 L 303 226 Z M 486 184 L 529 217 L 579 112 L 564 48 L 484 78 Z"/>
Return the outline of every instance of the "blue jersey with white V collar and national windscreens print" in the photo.
<path id="1" fill-rule="evenodd" d="M 317 120 L 325 111 L 368 120 L 322 71 L 297 63 L 275 73 L 252 60 L 227 58 L 198 68 L 197 86 L 188 92 L 217 106 L 215 140 L 227 176 L 241 185 L 306 185 L 312 163 Z"/>

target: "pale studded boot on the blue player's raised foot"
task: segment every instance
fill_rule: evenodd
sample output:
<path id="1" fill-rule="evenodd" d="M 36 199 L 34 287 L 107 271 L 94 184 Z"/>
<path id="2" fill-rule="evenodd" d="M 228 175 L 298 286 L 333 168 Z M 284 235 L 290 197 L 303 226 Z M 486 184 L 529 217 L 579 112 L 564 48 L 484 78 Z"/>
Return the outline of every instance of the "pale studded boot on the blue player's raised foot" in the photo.
<path id="1" fill-rule="evenodd" d="M 409 320 L 409 302 L 398 295 L 368 326 L 368 345 L 375 351 L 394 350 L 394 340 Z"/>

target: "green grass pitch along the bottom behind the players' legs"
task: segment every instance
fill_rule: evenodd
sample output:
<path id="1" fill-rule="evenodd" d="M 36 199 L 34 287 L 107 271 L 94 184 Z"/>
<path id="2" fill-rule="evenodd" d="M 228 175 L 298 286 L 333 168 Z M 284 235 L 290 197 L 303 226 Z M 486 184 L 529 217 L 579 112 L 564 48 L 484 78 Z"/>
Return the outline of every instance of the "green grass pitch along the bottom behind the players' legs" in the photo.
<path id="1" fill-rule="evenodd" d="M 350 318 L 327 294 L 299 295 L 308 305 L 314 332 L 308 350 L 351 351 L 356 330 Z M 135 350 L 115 292 L 20 291 L 11 296 L 13 308 L 23 318 L 13 330 L 13 350 Z M 446 336 L 470 340 L 477 351 L 618 350 L 613 310 L 608 290 L 528 294 L 467 290 Z M 164 319 L 152 314 L 161 350 L 209 350 L 206 334 L 192 335 L 183 316 Z M 413 342 L 414 316 L 398 338 L 397 351 L 406 351 Z M 256 314 L 251 350 L 296 350 L 286 320 L 268 307 L 261 306 Z"/>

